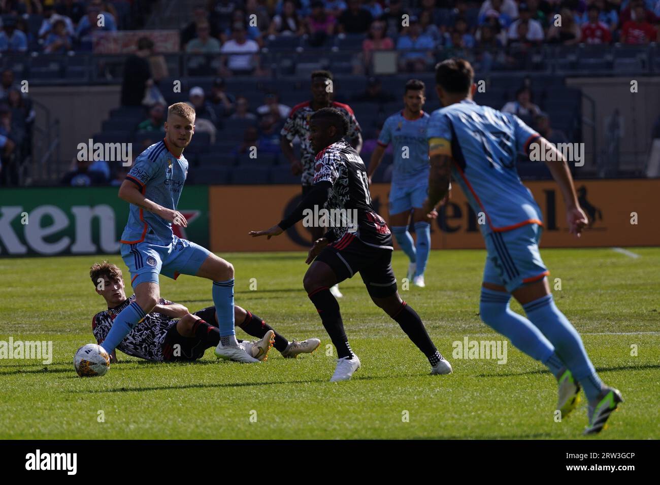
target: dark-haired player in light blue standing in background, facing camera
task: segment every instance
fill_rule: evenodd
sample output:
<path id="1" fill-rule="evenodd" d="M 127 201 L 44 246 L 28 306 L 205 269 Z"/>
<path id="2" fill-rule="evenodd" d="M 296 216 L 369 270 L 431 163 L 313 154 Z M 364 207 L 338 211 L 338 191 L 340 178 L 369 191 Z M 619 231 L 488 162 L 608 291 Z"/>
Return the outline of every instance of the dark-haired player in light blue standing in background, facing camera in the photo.
<path id="1" fill-rule="evenodd" d="M 425 101 L 424 82 L 417 79 L 406 82 L 403 110 L 385 120 L 367 170 L 371 184 L 385 148 L 392 143 L 394 170 L 389 190 L 389 225 L 397 243 L 410 259 L 407 277 L 420 288 L 426 286 L 424 270 L 431 247 L 431 224 L 423 207 L 428 191 L 426 124 L 429 115 L 422 111 Z M 408 231 L 411 211 L 416 242 Z"/>

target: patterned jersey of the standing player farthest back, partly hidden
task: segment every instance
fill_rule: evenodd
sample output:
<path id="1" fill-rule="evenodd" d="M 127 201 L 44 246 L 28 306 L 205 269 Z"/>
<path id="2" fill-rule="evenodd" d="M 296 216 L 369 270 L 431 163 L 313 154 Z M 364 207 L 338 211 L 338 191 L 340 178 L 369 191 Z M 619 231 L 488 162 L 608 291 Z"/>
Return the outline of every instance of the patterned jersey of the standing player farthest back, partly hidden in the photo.
<path id="1" fill-rule="evenodd" d="M 348 119 L 347 139 L 354 139 L 360 133 L 360 125 L 355 118 L 353 110 L 348 104 L 333 101 L 330 108 L 337 108 Z M 281 135 L 288 141 L 294 141 L 296 137 L 300 139 L 300 163 L 302 164 L 302 185 L 312 185 L 314 183 L 314 150 L 310 143 L 310 117 L 314 114 L 312 102 L 296 104 L 291 108 L 291 112 L 286 118 L 282 127 Z"/>

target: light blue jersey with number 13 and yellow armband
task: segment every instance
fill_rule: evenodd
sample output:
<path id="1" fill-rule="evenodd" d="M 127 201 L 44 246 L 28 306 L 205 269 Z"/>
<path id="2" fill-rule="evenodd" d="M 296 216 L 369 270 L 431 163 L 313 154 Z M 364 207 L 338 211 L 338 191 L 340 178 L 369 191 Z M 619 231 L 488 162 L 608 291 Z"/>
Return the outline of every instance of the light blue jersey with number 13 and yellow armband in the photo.
<path id="1" fill-rule="evenodd" d="M 434 111 L 427 136 L 430 153 L 451 156 L 453 178 L 475 213 L 484 212 L 484 235 L 543 225 L 541 209 L 515 168 L 517 152 L 540 135 L 517 116 L 463 100 Z"/>

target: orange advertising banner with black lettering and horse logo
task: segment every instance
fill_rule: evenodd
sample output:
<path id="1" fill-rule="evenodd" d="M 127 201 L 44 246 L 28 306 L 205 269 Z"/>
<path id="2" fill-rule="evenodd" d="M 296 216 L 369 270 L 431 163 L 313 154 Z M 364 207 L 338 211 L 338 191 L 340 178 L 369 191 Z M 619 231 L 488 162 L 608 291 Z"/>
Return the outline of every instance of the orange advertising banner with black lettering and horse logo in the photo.
<path id="1" fill-rule="evenodd" d="M 568 232 L 564 201 L 556 183 L 529 181 L 525 185 L 543 213 L 542 247 L 660 245 L 660 179 L 576 180 L 580 205 L 589 217 L 589 226 L 579 239 Z M 370 190 L 376 212 L 387 220 L 389 184 L 377 183 Z M 296 185 L 209 187 L 211 250 L 308 249 L 311 236 L 302 222 L 271 240 L 248 236 L 251 230 L 264 230 L 280 222 L 301 198 L 300 187 Z M 484 247 L 477 214 L 457 185 L 451 200 L 432 223 L 431 239 L 433 249 Z"/>

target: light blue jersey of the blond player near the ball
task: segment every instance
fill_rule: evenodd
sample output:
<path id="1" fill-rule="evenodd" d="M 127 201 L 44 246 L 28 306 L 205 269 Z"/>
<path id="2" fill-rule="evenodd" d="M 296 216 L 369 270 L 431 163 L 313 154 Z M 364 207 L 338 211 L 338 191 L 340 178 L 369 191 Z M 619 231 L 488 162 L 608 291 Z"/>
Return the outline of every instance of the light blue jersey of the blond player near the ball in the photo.
<path id="1" fill-rule="evenodd" d="M 143 195 L 150 201 L 175 210 L 187 174 L 188 161 L 183 155 L 176 158 L 162 140 L 149 146 L 135 159 L 135 164 L 126 179 L 140 187 Z M 130 205 L 128 222 L 121 234 L 122 243 L 170 244 L 173 236 L 171 222 L 133 204 Z"/>

